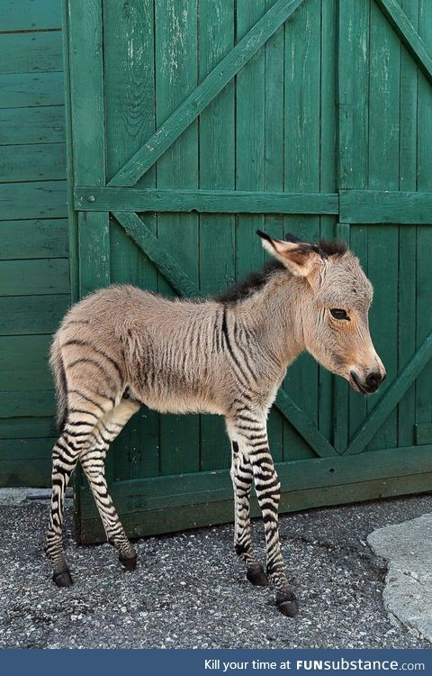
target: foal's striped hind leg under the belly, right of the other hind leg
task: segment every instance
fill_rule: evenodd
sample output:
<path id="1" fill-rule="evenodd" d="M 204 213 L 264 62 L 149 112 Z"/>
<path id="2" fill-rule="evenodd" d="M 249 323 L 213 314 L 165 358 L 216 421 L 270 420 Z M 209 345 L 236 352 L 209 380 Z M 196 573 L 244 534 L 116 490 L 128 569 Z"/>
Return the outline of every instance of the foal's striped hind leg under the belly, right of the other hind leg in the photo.
<path id="1" fill-rule="evenodd" d="M 104 474 L 104 461 L 109 445 L 120 434 L 121 429 L 130 417 L 138 410 L 138 404 L 134 404 L 128 399 L 122 399 L 117 407 L 99 420 L 94 429 L 94 443 L 80 455 L 81 465 L 92 489 L 107 540 L 118 551 L 119 561 L 128 570 L 135 568 L 137 554 L 130 544 L 112 504 Z"/>

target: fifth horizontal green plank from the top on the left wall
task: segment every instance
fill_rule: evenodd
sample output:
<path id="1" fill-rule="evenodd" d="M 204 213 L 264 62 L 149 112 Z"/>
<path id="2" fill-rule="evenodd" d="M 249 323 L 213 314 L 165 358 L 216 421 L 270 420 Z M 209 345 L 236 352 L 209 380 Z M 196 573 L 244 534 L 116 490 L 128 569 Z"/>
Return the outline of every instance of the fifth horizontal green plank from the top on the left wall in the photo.
<path id="1" fill-rule="evenodd" d="M 64 143 L 7 145 L 0 155 L 0 181 L 56 180 L 66 178 Z"/>

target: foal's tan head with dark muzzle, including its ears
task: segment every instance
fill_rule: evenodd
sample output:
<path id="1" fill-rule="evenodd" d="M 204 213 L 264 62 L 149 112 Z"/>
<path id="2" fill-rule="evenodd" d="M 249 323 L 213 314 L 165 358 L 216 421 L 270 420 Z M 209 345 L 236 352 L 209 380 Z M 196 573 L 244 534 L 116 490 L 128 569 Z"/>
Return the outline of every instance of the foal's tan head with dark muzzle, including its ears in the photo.
<path id="1" fill-rule="evenodd" d="M 306 350 L 357 392 L 375 392 L 385 369 L 369 333 L 374 290 L 359 260 L 345 242 L 321 241 L 317 246 L 293 235 L 283 241 L 258 234 L 266 251 L 302 279 L 295 312 Z"/>

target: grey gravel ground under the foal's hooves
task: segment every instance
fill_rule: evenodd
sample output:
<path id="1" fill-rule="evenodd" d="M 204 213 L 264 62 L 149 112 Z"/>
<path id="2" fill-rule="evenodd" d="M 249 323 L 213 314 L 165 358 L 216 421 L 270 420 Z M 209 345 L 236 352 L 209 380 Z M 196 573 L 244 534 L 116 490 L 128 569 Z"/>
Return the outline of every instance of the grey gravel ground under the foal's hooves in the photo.
<path id="1" fill-rule="evenodd" d="M 3 496 L 4 498 L 4 496 Z M 76 547 L 67 501 L 67 559 L 75 585 L 58 589 L 41 551 L 43 500 L 0 495 L 0 648 L 428 648 L 383 610 L 375 528 L 432 512 L 432 497 L 398 498 L 281 517 L 285 561 L 301 610 L 283 617 L 271 589 L 254 588 L 232 551 L 232 526 L 137 543 L 136 571 L 108 544 Z M 254 523 L 257 552 L 263 533 Z"/>

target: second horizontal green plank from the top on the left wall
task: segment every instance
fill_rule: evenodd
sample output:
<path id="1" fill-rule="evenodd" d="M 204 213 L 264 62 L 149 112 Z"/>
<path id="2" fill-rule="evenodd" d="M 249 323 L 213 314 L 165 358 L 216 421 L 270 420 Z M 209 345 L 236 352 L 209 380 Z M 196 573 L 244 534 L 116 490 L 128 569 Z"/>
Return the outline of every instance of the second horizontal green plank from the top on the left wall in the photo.
<path id="1" fill-rule="evenodd" d="M 62 70 L 61 32 L 14 32 L 1 37 L 0 73 Z"/>

